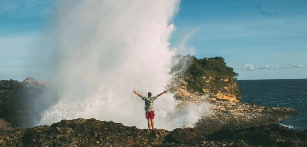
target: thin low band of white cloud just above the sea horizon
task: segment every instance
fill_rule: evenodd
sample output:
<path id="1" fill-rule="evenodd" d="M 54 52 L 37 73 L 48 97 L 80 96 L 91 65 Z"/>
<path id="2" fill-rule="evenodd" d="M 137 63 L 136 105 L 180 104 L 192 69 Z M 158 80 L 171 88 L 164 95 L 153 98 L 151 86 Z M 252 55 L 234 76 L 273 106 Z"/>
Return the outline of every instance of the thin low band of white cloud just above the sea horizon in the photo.
<path id="1" fill-rule="evenodd" d="M 275 66 L 253 66 L 252 64 L 245 64 L 243 66 L 237 66 L 238 70 L 264 70 L 264 69 L 285 69 L 285 68 L 305 68 L 306 65 L 302 64 L 282 64 L 282 65 L 275 65 Z"/>

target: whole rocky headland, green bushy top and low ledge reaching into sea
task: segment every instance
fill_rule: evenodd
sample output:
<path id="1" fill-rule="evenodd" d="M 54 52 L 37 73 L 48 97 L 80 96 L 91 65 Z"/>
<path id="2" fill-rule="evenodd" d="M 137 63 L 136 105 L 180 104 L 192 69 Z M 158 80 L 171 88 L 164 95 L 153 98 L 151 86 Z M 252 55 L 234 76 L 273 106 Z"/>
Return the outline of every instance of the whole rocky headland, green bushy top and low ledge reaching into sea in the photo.
<path id="1" fill-rule="evenodd" d="M 205 133 L 222 128 L 245 128 L 277 124 L 298 112 L 292 108 L 262 107 L 243 103 L 238 73 L 226 66 L 222 57 L 197 59 L 178 55 L 172 68 L 175 75 L 168 89 L 181 104 L 194 103 L 206 107 L 195 127 Z M 183 70 L 182 70 L 183 69 Z"/>

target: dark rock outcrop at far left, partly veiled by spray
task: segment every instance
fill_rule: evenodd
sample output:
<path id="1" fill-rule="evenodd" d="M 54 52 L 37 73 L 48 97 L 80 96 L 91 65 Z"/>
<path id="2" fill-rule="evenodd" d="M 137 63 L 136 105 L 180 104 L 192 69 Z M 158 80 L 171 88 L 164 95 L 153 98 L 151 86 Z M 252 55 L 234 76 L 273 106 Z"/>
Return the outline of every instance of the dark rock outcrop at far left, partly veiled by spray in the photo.
<path id="1" fill-rule="evenodd" d="M 57 100 L 56 89 L 49 83 L 26 78 L 0 81 L 0 119 L 13 127 L 33 126 L 41 119 L 41 111 Z M 49 94 L 49 95 L 48 95 Z"/>

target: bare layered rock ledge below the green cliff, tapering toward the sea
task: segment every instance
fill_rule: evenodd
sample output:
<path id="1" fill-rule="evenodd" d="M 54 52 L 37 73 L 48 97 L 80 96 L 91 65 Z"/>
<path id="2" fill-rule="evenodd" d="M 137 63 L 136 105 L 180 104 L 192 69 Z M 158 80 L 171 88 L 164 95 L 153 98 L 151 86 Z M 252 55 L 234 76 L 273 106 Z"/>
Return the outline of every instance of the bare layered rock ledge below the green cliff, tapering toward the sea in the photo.
<path id="1" fill-rule="evenodd" d="M 202 104 L 200 107 L 206 107 L 201 119 L 195 124 L 197 129 L 205 133 L 223 128 L 278 124 L 283 119 L 298 115 L 297 110 L 289 107 L 264 107 L 236 99 L 221 99 L 212 93 L 188 91 L 187 85 L 187 82 L 174 78 L 169 84 L 169 90 L 177 100 L 182 101 L 181 104 Z"/>

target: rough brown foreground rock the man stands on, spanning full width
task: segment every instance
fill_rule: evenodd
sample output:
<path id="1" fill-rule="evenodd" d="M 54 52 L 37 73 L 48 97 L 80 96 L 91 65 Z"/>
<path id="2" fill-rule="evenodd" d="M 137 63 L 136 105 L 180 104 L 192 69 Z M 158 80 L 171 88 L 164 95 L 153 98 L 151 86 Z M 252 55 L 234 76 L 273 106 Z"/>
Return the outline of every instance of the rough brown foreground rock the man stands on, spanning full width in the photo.
<path id="1" fill-rule="evenodd" d="M 51 126 L 0 129 L 0 146 L 306 146 L 307 130 L 289 130 L 273 124 L 205 134 L 195 128 L 138 129 L 112 121 L 95 119 L 62 120 Z"/>

